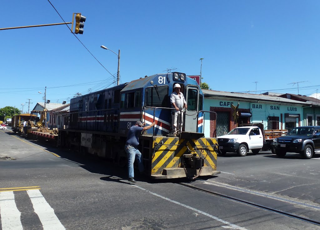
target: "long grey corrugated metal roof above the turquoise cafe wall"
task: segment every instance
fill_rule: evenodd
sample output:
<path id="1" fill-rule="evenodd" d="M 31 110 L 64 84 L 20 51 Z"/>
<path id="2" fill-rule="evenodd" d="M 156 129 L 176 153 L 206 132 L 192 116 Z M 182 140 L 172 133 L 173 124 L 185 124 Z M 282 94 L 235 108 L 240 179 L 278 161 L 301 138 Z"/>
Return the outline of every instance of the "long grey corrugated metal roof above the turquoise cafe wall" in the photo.
<path id="1" fill-rule="evenodd" d="M 250 93 L 234 93 L 234 92 L 223 92 L 214 90 L 202 90 L 204 93 L 204 98 L 233 98 L 241 99 L 244 101 L 271 101 L 278 103 L 289 103 L 289 104 L 300 104 L 300 105 L 310 105 L 308 102 L 291 100 L 282 97 L 261 95 L 261 94 L 250 94 Z M 319 104 L 320 105 L 320 104 Z"/>

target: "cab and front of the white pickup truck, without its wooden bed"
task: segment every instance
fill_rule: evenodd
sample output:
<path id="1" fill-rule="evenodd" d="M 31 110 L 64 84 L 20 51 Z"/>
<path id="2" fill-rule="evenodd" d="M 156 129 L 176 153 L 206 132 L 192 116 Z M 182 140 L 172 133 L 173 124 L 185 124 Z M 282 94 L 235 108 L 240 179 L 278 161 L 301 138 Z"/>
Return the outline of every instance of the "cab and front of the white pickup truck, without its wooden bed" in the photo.
<path id="1" fill-rule="evenodd" d="M 244 126 L 231 130 L 227 135 L 217 137 L 219 155 L 227 152 L 237 152 L 239 156 L 246 156 L 251 150 L 257 154 L 264 144 L 264 135 L 257 126 Z"/>

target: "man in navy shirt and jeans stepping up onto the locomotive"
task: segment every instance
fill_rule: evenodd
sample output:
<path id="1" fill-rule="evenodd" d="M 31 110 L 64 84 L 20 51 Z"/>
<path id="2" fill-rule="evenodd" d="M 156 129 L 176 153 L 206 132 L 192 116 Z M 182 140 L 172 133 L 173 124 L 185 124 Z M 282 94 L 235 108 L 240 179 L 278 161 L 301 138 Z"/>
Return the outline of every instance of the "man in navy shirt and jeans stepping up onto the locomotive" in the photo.
<path id="1" fill-rule="evenodd" d="M 141 159 L 141 152 L 137 149 L 139 145 L 139 136 L 141 131 L 148 130 L 153 127 L 156 122 L 152 122 L 151 125 L 145 126 L 146 123 L 137 121 L 135 125 L 132 125 L 128 131 L 127 141 L 124 146 L 124 150 L 128 155 L 128 181 L 135 183 L 134 180 L 134 170 L 133 170 L 133 163 L 134 159 L 137 158 L 138 160 L 138 167 L 140 173 L 144 171 L 143 162 Z"/>

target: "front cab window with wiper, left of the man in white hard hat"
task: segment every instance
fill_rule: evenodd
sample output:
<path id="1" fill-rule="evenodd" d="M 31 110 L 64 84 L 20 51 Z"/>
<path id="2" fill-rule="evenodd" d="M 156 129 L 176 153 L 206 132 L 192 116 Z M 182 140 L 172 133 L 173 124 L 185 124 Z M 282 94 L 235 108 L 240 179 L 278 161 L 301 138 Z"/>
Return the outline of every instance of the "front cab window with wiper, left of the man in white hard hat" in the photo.
<path id="1" fill-rule="evenodd" d="M 169 86 L 153 86 L 146 88 L 145 106 L 147 107 L 169 107 Z"/>

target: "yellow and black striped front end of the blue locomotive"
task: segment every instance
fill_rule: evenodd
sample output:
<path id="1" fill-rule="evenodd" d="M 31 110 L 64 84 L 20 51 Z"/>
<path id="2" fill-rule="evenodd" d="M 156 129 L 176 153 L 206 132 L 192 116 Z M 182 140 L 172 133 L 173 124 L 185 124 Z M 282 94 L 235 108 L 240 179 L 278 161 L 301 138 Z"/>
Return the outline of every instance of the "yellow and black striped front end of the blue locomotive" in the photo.
<path id="1" fill-rule="evenodd" d="M 220 174 L 216 170 L 217 149 L 214 138 L 153 137 L 151 177 L 195 178 Z"/>

